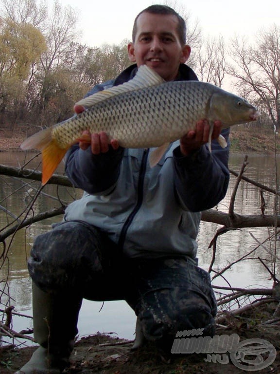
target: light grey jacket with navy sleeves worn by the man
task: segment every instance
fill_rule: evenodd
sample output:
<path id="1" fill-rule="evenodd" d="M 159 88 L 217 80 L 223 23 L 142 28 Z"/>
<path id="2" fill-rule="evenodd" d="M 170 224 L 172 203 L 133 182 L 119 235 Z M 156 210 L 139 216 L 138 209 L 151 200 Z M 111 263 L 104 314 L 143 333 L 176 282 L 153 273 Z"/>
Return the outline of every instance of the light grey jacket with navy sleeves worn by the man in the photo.
<path id="1" fill-rule="evenodd" d="M 127 69 L 129 76 L 132 69 Z M 223 135 L 228 138 L 228 131 Z M 94 156 L 74 145 L 66 173 L 85 193 L 67 207 L 64 219 L 101 228 L 128 257 L 195 258 L 200 211 L 218 204 L 227 191 L 228 147 L 223 150 L 213 142 L 211 154 L 203 146 L 182 157 L 177 141 L 154 168 L 148 162 L 151 151 L 119 148 Z"/>

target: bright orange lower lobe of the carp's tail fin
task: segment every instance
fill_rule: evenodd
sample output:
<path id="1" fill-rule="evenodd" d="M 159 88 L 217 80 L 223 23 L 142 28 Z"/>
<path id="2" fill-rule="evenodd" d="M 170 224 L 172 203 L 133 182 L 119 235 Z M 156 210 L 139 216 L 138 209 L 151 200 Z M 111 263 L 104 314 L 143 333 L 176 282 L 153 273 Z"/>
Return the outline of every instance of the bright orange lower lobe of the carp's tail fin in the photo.
<path id="1" fill-rule="evenodd" d="M 68 149 L 61 149 L 52 140 L 42 150 L 42 185 L 44 186 L 58 167 Z"/>

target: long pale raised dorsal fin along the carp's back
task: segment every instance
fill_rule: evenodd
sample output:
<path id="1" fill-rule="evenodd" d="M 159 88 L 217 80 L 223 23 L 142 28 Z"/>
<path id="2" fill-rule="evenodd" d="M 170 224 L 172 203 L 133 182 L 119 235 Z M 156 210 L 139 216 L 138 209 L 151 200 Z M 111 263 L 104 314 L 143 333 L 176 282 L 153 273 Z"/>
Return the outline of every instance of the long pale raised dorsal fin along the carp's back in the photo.
<path id="1" fill-rule="evenodd" d="M 141 65 L 133 79 L 120 84 L 119 86 L 93 93 L 92 95 L 78 101 L 75 106 L 81 105 L 85 108 L 89 108 L 92 105 L 106 100 L 112 96 L 116 96 L 129 91 L 139 90 L 141 88 L 157 86 L 158 84 L 161 84 L 163 82 L 165 82 L 165 80 L 161 78 L 161 76 L 158 75 L 154 70 L 149 68 L 147 65 Z"/>

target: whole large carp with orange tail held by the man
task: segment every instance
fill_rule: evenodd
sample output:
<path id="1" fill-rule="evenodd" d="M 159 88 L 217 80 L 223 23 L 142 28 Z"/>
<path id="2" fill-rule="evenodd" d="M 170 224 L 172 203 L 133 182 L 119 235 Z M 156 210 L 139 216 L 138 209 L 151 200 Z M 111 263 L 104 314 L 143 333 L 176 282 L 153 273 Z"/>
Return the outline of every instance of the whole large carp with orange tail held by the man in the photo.
<path id="1" fill-rule="evenodd" d="M 125 148 L 159 147 L 151 152 L 154 166 L 168 144 L 194 130 L 197 121 L 222 122 L 223 127 L 255 121 L 259 112 L 245 99 L 209 83 L 198 81 L 164 82 L 143 65 L 129 82 L 95 93 L 80 100 L 86 110 L 26 139 L 21 148 L 42 151 L 45 184 L 77 141 L 89 141 L 83 135 L 105 131 L 109 140 L 118 140 Z M 218 141 L 226 146 L 220 136 Z"/>

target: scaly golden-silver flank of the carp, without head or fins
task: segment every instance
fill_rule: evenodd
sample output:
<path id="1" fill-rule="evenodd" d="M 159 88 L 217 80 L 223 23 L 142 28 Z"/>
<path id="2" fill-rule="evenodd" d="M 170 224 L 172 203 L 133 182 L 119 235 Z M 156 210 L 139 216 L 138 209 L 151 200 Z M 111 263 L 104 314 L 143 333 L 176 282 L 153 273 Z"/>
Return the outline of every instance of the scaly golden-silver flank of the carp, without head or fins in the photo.
<path id="1" fill-rule="evenodd" d="M 186 91 L 184 83 L 167 82 L 107 99 L 79 114 L 79 118 L 73 117 L 68 124 L 57 125 L 53 138 L 67 148 L 87 129 L 105 131 L 125 148 L 158 147 L 173 141 L 192 130 L 198 118 L 206 117 L 207 91 L 203 94 L 197 89 L 197 83 L 201 82 L 193 82 L 194 85 L 188 82 Z M 197 103 L 192 101 L 194 91 L 199 92 Z"/>

